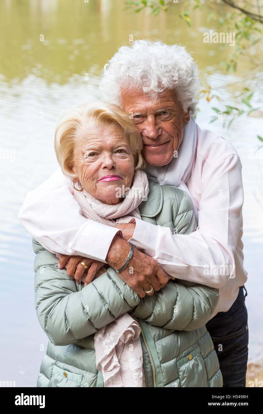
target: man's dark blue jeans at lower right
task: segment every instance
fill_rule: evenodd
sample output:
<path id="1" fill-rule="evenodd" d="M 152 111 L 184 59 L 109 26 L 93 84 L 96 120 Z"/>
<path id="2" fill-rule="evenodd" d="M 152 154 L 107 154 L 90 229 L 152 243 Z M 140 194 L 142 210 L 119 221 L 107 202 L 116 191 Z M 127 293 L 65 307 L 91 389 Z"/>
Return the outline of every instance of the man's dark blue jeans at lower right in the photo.
<path id="1" fill-rule="evenodd" d="M 245 387 L 249 330 L 244 286 L 227 312 L 219 312 L 206 324 L 218 355 L 223 387 Z M 244 288 L 245 289 L 245 288 Z M 246 291 L 246 289 L 245 289 Z"/>

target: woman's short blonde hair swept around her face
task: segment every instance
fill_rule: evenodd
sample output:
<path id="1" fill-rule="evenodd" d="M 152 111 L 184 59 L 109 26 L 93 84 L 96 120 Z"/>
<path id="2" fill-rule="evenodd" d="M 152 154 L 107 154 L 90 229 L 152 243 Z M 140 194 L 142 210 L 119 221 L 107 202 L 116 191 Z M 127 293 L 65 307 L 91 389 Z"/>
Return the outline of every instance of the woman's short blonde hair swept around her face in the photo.
<path id="1" fill-rule="evenodd" d="M 67 111 L 60 119 L 55 132 L 55 152 L 57 161 L 63 173 L 71 178 L 74 174 L 69 171 L 73 164 L 74 147 L 79 128 L 92 126 L 116 125 L 123 130 L 132 154 L 134 155 L 134 169 L 144 168 L 146 163 L 141 155 L 143 148 L 141 134 L 129 115 L 117 105 L 99 102 L 79 106 Z"/>

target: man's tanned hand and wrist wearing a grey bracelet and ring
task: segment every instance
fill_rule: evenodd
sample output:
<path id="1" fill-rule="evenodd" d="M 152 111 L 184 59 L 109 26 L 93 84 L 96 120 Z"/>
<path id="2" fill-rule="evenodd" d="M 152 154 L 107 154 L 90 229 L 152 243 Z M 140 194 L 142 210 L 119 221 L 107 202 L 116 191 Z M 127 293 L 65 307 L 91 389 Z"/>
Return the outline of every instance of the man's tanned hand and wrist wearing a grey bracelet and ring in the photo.
<path id="1" fill-rule="evenodd" d="M 127 260 L 129 251 L 129 243 L 115 236 L 105 260 L 113 269 L 119 269 Z M 160 290 L 170 279 L 156 260 L 140 252 L 135 246 L 131 260 L 118 275 L 140 298 L 144 298 L 145 291 L 150 291 L 152 287 L 152 294 Z"/>

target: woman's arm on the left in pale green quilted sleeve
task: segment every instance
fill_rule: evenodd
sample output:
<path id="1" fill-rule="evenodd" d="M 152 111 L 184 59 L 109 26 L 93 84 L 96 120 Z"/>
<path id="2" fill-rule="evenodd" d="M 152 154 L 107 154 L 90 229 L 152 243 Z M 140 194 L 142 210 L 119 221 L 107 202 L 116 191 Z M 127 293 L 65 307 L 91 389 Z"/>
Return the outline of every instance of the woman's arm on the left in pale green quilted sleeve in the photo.
<path id="1" fill-rule="evenodd" d="M 33 240 L 35 303 L 39 323 L 54 345 L 76 343 L 140 301 L 134 291 L 109 268 L 86 287 L 77 285 L 57 258 Z"/>

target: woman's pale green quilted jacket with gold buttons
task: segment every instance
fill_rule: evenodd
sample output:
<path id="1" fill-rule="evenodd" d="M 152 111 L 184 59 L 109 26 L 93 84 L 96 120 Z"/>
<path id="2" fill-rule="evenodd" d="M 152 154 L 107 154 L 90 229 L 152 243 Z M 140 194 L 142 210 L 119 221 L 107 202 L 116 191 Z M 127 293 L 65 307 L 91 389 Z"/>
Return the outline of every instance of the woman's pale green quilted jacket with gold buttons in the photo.
<path id="1" fill-rule="evenodd" d="M 189 234 L 196 218 L 189 195 L 150 183 L 141 218 Z M 110 267 L 84 287 L 56 256 L 33 240 L 36 311 L 49 338 L 37 387 L 103 387 L 95 361 L 94 334 L 125 312 L 141 327 L 147 387 L 222 387 L 222 374 L 206 330 L 218 290 L 175 279 L 153 296 L 139 298 Z"/>

